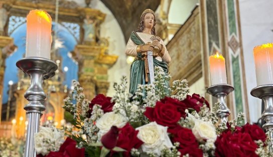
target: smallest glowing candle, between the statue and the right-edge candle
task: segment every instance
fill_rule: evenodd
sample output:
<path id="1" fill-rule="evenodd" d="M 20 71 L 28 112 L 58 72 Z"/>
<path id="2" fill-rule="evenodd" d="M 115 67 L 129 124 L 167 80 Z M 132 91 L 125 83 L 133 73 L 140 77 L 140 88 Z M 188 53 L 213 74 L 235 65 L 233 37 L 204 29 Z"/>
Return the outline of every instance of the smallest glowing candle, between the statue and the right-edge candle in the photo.
<path id="1" fill-rule="evenodd" d="M 211 85 L 226 84 L 226 66 L 223 55 L 218 52 L 215 55 L 211 55 L 209 57 L 209 65 Z"/>

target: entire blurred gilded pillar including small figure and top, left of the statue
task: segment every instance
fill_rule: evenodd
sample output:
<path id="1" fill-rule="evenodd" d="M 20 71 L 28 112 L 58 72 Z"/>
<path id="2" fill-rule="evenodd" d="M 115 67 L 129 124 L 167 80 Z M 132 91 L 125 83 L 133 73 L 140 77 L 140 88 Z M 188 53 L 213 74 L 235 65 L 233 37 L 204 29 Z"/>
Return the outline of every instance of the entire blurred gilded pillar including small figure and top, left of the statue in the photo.
<path id="1" fill-rule="evenodd" d="M 97 93 L 106 94 L 108 68 L 118 56 L 108 55 L 108 40 L 100 36 L 100 24 L 104 21 L 104 13 L 85 7 L 80 8 L 83 31 L 80 43 L 75 46 L 73 57 L 79 63 L 79 82 L 84 87 L 86 98 L 91 100 Z"/>

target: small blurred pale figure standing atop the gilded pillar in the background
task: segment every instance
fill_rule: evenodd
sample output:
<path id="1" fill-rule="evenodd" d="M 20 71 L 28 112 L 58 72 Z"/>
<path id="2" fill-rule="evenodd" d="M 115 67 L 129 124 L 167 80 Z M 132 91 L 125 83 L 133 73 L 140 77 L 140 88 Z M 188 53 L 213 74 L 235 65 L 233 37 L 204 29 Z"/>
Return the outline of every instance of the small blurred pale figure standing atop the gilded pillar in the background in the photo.
<path id="1" fill-rule="evenodd" d="M 83 20 L 83 29 L 84 29 L 84 38 L 83 41 L 85 44 L 91 44 L 95 41 L 95 20 L 90 18 L 89 15 L 86 15 L 86 18 Z"/>

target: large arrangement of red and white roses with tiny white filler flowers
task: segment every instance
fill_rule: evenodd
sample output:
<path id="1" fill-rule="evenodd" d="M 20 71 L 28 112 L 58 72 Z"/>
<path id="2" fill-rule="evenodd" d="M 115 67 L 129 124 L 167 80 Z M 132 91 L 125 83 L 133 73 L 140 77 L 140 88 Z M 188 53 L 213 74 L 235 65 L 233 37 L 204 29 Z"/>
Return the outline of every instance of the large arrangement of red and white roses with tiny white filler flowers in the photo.
<path id="1" fill-rule="evenodd" d="M 42 127 L 35 135 L 39 156 L 272 156 L 263 130 L 244 124 L 242 113 L 220 122 L 219 104 L 210 110 L 204 97 L 188 95 L 187 80 L 168 87 L 162 68 L 155 75 L 133 95 L 123 77 L 113 97 L 98 94 L 91 102 L 73 81 L 76 94 L 64 100 L 72 126 Z"/>

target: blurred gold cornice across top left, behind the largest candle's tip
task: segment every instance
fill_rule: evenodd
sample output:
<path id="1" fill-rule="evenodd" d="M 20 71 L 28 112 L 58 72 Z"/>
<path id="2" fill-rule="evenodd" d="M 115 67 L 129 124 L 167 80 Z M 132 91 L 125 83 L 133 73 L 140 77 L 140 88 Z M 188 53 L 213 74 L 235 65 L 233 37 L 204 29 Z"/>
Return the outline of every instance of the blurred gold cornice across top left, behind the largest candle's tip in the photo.
<path id="1" fill-rule="evenodd" d="M 2 0 L 2 2 L 5 4 L 6 8 L 10 12 L 9 13 L 10 16 L 26 17 L 26 15 L 29 13 L 29 10 L 44 9 L 54 19 L 56 6 L 55 6 L 55 2 L 53 4 L 52 1 L 55 1 L 55 0 L 45 0 L 45 1 L 36 0 L 35 2 L 33 2 L 33 0 Z M 68 3 L 71 3 L 71 5 Z M 83 23 L 83 19 L 85 18 L 86 15 L 89 15 L 90 17 L 93 17 L 94 19 L 96 19 L 98 24 L 104 21 L 106 14 L 101 12 L 100 10 L 89 8 L 89 7 L 81 8 L 81 7 L 78 7 L 77 5 L 72 6 L 72 3 L 73 2 L 71 1 L 60 0 L 59 12 L 58 12 L 59 21 L 81 24 Z"/>

